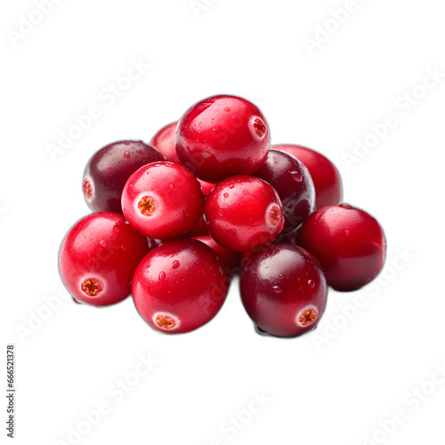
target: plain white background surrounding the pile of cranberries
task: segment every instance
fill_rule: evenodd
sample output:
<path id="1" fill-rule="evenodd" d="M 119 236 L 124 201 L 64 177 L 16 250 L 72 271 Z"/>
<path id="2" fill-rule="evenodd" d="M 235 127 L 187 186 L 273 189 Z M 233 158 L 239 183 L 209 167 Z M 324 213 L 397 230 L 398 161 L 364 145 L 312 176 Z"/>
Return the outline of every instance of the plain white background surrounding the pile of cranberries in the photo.
<path id="1" fill-rule="evenodd" d="M 65 0 L 18 37 L 20 16 L 36 6 L 2 2 L 1 317 L 4 348 L 16 344 L 16 443 L 74 443 L 69 428 L 88 430 L 82 412 L 101 402 L 108 414 L 79 443 L 444 443 L 445 384 L 429 382 L 445 361 L 445 77 L 419 86 L 427 69 L 445 73 L 443 5 L 357 0 L 339 25 L 331 10 L 350 4 L 342 0 L 199 4 Z M 319 30 L 320 42 L 327 20 L 327 41 L 310 54 L 304 38 Z M 150 68 L 105 100 L 104 88 L 140 59 Z M 419 100 L 407 106 L 413 89 Z M 377 284 L 330 291 L 319 328 L 291 340 L 255 334 L 238 281 L 217 317 L 183 336 L 153 331 L 131 299 L 97 309 L 53 297 L 48 312 L 45 301 L 61 292 L 61 239 L 88 213 L 86 160 L 118 139 L 149 142 L 214 93 L 255 101 L 273 143 L 336 162 L 344 200 L 384 226 Z M 93 105 L 101 117 L 51 158 L 48 146 Z M 397 125 L 378 142 L 368 137 L 373 147 L 348 167 L 345 153 L 356 156 L 356 139 L 387 114 Z M 139 354 L 158 364 L 136 382 Z M 134 386 L 118 401 L 109 387 L 125 378 Z M 267 399 L 261 410 L 254 392 Z M 379 432 L 396 410 L 404 421 Z"/>

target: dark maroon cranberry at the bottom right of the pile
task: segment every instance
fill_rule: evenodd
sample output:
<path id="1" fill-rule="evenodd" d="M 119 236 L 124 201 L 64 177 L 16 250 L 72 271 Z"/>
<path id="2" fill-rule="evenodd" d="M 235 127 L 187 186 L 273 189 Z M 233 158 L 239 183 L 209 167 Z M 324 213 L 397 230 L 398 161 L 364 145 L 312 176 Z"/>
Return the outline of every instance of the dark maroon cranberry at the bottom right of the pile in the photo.
<path id="1" fill-rule="evenodd" d="M 300 336 L 325 312 L 328 287 L 317 260 L 278 243 L 252 254 L 241 273 L 241 299 L 256 326 L 272 336 Z"/>

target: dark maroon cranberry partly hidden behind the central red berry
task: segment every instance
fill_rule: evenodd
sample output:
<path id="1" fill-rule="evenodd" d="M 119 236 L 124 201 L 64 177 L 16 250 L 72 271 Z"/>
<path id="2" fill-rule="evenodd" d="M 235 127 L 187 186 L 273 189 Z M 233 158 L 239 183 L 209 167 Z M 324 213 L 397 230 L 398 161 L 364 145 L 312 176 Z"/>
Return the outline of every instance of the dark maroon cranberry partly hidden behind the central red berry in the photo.
<path id="1" fill-rule="evenodd" d="M 277 190 L 283 204 L 283 235 L 296 231 L 315 210 L 315 189 L 308 169 L 284 151 L 269 150 L 255 176 Z"/>

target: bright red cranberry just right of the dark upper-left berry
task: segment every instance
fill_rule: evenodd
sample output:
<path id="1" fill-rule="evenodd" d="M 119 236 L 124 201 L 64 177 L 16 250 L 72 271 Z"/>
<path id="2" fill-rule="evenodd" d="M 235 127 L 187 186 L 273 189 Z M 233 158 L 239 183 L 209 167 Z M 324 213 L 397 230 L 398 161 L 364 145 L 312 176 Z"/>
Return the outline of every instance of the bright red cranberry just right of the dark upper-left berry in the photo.
<path id="1" fill-rule="evenodd" d="M 125 183 L 122 209 L 128 223 L 153 239 L 183 235 L 202 215 L 204 196 L 187 168 L 174 162 L 142 166 Z"/>

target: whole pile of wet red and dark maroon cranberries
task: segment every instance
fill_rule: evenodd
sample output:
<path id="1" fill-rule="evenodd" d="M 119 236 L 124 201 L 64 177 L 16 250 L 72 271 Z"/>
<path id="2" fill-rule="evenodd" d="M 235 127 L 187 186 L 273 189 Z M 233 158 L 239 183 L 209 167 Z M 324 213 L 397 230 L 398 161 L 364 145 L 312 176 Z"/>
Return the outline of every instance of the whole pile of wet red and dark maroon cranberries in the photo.
<path id="1" fill-rule="evenodd" d="M 261 111 L 228 95 L 192 106 L 150 142 L 114 142 L 84 174 L 94 211 L 61 245 L 61 279 L 77 303 L 132 294 L 166 333 L 214 318 L 230 281 L 262 332 L 316 327 L 328 286 L 358 289 L 382 270 L 376 219 L 342 202 L 336 166 L 297 145 L 270 145 Z"/>

